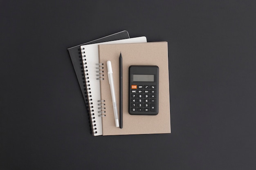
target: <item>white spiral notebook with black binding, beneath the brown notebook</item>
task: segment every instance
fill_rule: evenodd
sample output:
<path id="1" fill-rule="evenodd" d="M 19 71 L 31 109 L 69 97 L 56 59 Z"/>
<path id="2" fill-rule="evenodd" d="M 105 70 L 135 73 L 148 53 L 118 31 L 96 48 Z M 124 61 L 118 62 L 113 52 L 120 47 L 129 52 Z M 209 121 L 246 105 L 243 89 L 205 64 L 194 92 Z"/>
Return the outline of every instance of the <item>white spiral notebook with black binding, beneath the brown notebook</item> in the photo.
<path id="1" fill-rule="evenodd" d="M 101 64 L 99 64 L 98 45 L 100 44 L 128 44 L 147 42 L 146 37 L 137 37 L 124 40 L 116 40 L 110 42 L 102 42 L 97 44 L 89 44 L 81 46 L 83 68 L 85 75 L 85 83 L 88 93 L 88 106 L 90 110 L 90 119 L 92 134 L 94 136 L 103 135 L 102 117 L 106 116 L 104 108 L 105 104 L 101 101 L 100 80 L 104 79 L 106 73 L 102 73 Z"/>

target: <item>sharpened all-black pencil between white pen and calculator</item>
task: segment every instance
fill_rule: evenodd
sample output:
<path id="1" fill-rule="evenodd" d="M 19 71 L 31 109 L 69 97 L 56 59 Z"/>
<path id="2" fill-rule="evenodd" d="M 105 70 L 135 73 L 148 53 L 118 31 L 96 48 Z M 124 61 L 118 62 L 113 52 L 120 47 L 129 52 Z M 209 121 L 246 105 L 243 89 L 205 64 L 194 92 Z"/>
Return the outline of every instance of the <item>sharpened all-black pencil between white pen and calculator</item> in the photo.
<path id="1" fill-rule="evenodd" d="M 119 57 L 119 128 L 123 128 L 123 58 Z"/>

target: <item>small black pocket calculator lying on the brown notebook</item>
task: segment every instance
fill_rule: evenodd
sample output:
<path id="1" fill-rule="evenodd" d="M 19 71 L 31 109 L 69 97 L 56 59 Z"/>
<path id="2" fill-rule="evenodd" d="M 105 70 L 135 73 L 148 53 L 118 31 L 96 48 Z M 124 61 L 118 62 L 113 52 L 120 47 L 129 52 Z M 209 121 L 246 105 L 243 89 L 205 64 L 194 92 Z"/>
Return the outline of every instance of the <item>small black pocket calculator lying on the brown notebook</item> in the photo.
<path id="1" fill-rule="evenodd" d="M 130 115 L 157 115 L 159 93 L 158 66 L 129 67 Z"/>

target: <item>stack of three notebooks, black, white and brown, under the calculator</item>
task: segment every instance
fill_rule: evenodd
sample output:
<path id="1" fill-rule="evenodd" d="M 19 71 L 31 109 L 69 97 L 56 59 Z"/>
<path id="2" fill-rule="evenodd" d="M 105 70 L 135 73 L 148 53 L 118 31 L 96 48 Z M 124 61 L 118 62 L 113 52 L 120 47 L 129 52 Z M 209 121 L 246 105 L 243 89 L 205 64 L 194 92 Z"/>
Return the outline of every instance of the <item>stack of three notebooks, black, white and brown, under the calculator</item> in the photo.
<path id="1" fill-rule="evenodd" d="M 98 135 L 171 133 L 167 42 L 147 42 L 146 37 L 130 38 L 121 31 L 68 49 L 85 104 L 91 132 Z M 107 61 L 112 63 L 116 102 L 119 110 L 119 55 L 123 59 L 123 128 L 115 126 L 108 80 Z M 157 115 L 130 115 L 129 66 L 158 66 L 159 106 Z"/>

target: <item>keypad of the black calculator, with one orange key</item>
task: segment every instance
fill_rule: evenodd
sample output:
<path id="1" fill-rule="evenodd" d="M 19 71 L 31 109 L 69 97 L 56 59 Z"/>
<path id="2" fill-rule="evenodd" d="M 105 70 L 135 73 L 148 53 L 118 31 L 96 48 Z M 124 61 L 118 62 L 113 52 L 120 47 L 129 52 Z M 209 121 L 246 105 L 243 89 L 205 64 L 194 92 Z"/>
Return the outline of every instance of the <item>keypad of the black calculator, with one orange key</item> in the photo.
<path id="1" fill-rule="evenodd" d="M 150 112 L 157 111 L 157 86 L 156 85 L 131 85 L 131 112 Z"/>

